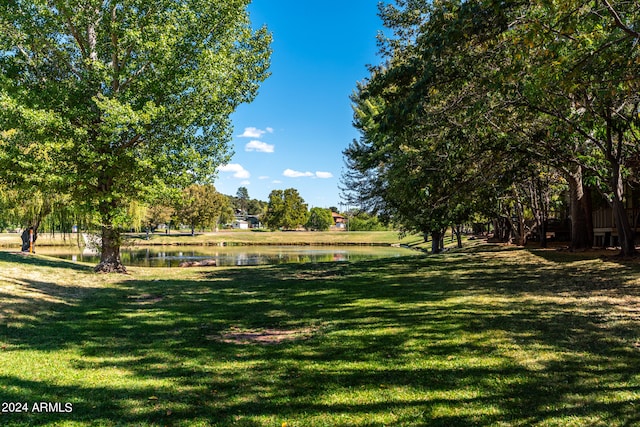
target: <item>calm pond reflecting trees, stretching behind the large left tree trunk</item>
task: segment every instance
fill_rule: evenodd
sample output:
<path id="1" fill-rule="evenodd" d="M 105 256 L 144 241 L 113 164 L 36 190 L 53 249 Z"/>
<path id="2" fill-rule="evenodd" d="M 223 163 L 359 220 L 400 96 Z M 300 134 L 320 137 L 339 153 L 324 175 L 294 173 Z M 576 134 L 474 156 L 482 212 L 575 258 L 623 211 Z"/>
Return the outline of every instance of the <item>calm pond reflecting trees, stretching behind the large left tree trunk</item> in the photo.
<path id="1" fill-rule="evenodd" d="M 60 247 L 38 247 L 38 253 L 79 262 L 97 264 L 95 252 Z M 177 267 L 184 261 L 215 259 L 220 266 L 268 265 L 306 262 L 345 262 L 415 255 L 395 247 L 372 246 L 193 246 L 123 248 L 122 262 L 127 266 Z"/>

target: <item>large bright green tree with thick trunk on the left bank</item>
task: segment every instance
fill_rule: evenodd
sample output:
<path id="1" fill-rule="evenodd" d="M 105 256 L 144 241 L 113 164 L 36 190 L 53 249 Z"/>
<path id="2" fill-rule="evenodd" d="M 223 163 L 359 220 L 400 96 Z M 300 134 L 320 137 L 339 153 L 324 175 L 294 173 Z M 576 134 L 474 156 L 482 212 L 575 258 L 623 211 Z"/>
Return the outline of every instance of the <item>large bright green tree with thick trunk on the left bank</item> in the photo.
<path id="1" fill-rule="evenodd" d="M 120 227 L 130 200 L 157 184 L 206 183 L 228 161 L 229 116 L 253 99 L 269 66 L 270 35 L 251 29 L 247 4 L 0 6 L 0 175 L 32 186 L 49 176 L 50 187 L 96 212 L 96 271 L 125 271 Z"/>

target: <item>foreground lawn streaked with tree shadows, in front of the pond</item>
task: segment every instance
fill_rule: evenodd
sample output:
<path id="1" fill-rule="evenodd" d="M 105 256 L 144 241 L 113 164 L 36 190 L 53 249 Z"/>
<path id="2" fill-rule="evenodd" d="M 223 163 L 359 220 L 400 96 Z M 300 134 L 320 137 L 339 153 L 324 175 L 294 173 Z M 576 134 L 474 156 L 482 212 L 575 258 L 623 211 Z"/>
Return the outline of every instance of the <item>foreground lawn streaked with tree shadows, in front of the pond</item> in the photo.
<path id="1" fill-rule="evenodd" d="M 640 425 L 636 263 L 476 246 L 130 273 L 0 252 L 0 425 Z"/>

